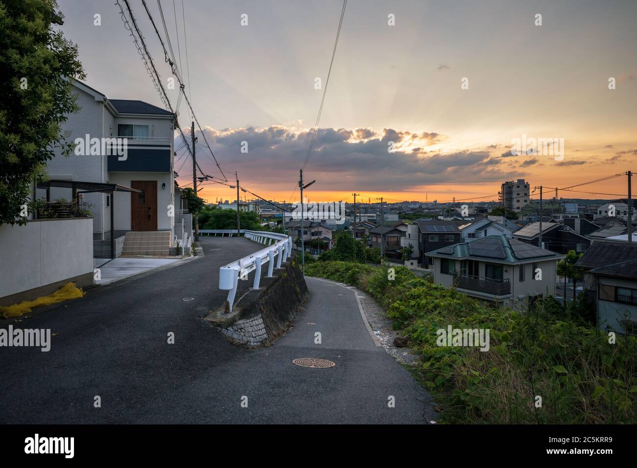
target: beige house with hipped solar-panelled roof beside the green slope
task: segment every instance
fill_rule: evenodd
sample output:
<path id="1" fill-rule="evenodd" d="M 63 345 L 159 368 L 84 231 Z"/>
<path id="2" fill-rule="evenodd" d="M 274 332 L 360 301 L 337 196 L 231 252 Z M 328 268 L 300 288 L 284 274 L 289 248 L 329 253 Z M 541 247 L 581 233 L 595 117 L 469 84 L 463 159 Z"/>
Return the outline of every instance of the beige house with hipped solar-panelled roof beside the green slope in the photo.
<path id="1" fill-rule="evenodd" d="M 558 253 L 506 236 L 488 236 L 427 252 L 434 281 L 515 309 L 555 295 Z"/>

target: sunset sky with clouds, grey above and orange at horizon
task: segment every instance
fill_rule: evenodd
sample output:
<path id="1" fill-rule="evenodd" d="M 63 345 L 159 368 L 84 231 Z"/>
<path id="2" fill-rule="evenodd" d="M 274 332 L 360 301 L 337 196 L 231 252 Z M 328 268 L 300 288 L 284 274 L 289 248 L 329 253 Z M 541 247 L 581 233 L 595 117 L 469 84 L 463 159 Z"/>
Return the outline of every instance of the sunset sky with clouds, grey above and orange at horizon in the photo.
<path id="1" fill-rule="evenodd" d="M 78 44 L 88 85 L 162 106 L 114 3 L 59 0 L 61 30 Z M 141 0 L 129 3 L 166 85 L 159 39 Z M 147 5 L 164 38 L 157 1 Z M 234 179 L 236 171 L 266 199 L 299 200 L 342 5 L 183 0 L 182 13 L 182 0 L 161 0 L 186 92 L 224 175 L 197 145 L 205 173 Z M 304 168 L 304 180 L 316 180 L 306 196 L 478 201 L 497 199 L 506 180 L 562 188 L 637 171 L 636 18 L 631 0 L 348 0 Z M 175 105 L 178 90 L 167 92 Z M 186 134 L 190 120 L 182 100 Z M 516 139 L 549 138 L 552 154 L 540 145 L 512 155 Z M 187 186 L 192 161 L 183 153 L 175 169 Z M 627 181 L 576 190 L 558 196 L 613 199 L 626 196 Z M 199 195 L 236 198 L 212 181 Z"/>

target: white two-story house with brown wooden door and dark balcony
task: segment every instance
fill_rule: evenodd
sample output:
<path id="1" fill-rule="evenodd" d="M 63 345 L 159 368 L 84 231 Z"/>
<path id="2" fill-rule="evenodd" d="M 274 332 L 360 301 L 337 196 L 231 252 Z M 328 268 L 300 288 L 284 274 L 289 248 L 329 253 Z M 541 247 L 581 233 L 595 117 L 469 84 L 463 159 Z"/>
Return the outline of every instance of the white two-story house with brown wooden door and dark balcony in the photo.
<path id="1" fill-rule="evenodd" d="M 85 190 L 82 200 L 94 216 L 94 255 L 110 257 L 101 254 L 110 252 L 113 207 L 118 253 L 168 255 L 175 225 L 175 116 L 143 101 L 108 99 L 80 81 L 73 82 L 73 90 L 80 110 L 68 116 L 64 131 L 70 133 L 69 140 L 85 142 L 85 148 L 66 157 L 58 154 L 48 162 L 51 180 L 117 184 L 134 190 L 110 194 Z M 125 155 L 94 144 L 112 138 L 125 139 Z M 42 190 L 38 197 L 43 197 Z M 72 197 L 69 188 L 50 188 L 50 199 Z"/>

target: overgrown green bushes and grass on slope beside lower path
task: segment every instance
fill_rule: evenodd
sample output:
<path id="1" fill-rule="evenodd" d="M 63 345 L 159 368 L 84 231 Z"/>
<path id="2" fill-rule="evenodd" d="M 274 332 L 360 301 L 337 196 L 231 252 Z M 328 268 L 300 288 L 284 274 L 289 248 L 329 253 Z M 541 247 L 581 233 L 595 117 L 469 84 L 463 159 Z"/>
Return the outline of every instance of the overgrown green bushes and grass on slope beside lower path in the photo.
<path id="1" fill-rule="evenodd" d="M 420 355 L 414 369 L 446 423 L 634 423 L 637 338 L 585 322 L 577 305 L 548 297 L 526 313 L 487 306 L 395 267 L 316 262 L 308 276 L 355 285 L 375 297 Z M 580 295 L 580 297 L 585 294 Z M 436 331 L 489 329 L 490 349 L 438 346 Z M 536 397 L 541 397 L 541 408 Z"/>

